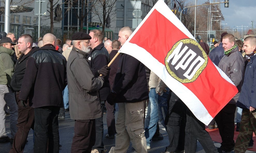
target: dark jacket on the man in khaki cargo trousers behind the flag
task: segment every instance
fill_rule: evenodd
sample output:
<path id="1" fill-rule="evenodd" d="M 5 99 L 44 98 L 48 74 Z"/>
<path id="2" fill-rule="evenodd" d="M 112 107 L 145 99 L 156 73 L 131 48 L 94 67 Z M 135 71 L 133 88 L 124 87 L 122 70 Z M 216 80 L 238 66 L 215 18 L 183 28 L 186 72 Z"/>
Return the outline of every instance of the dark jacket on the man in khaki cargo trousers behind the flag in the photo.
<path id="1" fill-rule="evenodd" d="M 117 93 L 115 103 L 148 99 L 145 66 L 131 55 L 121 54 L 112 91 Z"/>

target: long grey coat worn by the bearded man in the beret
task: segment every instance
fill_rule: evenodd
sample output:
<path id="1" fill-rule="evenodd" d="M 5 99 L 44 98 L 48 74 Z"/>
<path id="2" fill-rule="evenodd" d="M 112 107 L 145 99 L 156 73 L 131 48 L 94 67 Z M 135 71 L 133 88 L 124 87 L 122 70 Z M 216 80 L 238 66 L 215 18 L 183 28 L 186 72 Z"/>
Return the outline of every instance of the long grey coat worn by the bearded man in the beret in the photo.
<path id="1" fill-rule="evenodd" d="M 67 62 L 69 113 L 75 120 L 102 117 L 98 91 L 104 79 L 93 75 L 87 55 L 73 46 Z"/>

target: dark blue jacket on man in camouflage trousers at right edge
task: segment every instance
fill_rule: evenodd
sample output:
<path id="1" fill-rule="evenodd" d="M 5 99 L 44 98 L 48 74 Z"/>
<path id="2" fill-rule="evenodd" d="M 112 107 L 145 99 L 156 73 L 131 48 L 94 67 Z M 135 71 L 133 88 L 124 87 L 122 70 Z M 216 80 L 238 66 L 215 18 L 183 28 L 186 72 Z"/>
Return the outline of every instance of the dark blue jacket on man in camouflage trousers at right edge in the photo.
<path id="1" fill-rule="evenodd" d="M 255 78 L 254 78 L 255 76 Z M 248 62 L 241 94 L 237 101 L 237 107 L 250 109 L 256 108 L 256 55 L 251 56 Z"/>

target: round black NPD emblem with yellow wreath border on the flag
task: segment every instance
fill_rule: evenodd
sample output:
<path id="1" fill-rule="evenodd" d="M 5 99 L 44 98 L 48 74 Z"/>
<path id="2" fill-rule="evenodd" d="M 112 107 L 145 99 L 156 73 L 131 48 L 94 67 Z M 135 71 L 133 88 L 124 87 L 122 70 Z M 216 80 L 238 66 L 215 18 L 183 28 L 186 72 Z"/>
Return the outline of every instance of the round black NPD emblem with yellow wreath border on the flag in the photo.
<path id="1" fill-rule="evenodd" d="M 181 83 L 195 81 L 207 63 L 207 54 L 194 39 L 176 42 L 165 58 L 166 70 Z"/>

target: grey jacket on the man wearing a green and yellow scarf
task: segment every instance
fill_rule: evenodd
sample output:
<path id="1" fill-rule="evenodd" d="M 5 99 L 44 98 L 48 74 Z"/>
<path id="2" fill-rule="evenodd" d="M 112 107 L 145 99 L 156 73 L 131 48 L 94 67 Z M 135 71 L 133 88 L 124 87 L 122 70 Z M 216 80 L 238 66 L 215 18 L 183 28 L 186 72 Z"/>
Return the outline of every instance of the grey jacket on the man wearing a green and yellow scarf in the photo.
<path id="1" fill-rule="evenodd" d="M 243 84 L 244 59 L 238 47 L 229 54 L 224 55 L 218 67 L 232 80 L 238 89 L 238 93 L 229 101 L 229 104 L 236 104 Z"/>

